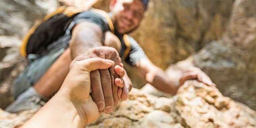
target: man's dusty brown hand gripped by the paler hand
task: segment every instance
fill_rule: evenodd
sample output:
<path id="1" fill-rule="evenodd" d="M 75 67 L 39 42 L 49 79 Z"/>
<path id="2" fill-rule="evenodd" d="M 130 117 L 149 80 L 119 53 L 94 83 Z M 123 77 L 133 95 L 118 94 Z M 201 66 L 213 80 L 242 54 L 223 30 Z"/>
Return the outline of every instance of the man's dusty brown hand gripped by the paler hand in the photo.
<path id="1" fill-rule="evenodd" d="M 90 73 L 93 101 L 97 104 L 99 111 L 111 113 L 120 99 L 118 97 L 118 86 L 122 88 L 122 85 L 115 85 L 115 79 L 122 76 L 122 74 L 117 74 L 114 70 L 115 66 L 122 66 L 121 58 L 116 49 L 106 46 L 95 47 L 76 57 L 73 62 L 97 57 L 114 61 L 114 64 L 109 69 L 95 70 Z M 120 78 L 122 79 L 122 77 Z M 129 83 L 129 81 L 126 82 L 125 80 L 124 83 Z"/>

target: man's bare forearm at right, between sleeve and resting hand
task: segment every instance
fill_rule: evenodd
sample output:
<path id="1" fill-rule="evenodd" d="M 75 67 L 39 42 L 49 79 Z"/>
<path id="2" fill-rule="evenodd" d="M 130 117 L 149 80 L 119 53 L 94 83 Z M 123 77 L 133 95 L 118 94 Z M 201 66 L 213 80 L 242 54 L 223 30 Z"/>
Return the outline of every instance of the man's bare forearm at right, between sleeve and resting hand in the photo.
<path id="1" fill-rule="evenodd" d="M 135 65 L 146 81 L 156 89 L 175 95 L 179 86 L 170 81 L 165 72 L 155 66 L 148 58 L 142 58 Z"/>

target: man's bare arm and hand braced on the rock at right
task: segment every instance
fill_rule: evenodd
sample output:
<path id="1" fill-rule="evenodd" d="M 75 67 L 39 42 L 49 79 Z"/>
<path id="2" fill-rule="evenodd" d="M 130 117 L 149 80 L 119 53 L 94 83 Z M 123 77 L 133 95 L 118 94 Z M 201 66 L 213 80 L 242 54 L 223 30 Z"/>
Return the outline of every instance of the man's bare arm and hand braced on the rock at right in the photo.
<path id="1" fill-rule="evenodd" d="M 182 77 L 180 78 L 179 85 L 175 85 L 170 78 L 167 77 L 165 72 L 155 66 L 148 58 L 142 58 L 136 64 L 136 67 L 143 74 L 146 81 L 153 85 L 156 89 L 170 93 L 175 95 L 178 88 L 184 84 L 185 81 L 190 79 L 197 79 L 199 82 L 202 82 L 209 86 L 216 85 L 212 82 L 209 76 L 207 76 L 202 70 L 196 67 L 191 67 L 188 71 L 183 73 Z"/>

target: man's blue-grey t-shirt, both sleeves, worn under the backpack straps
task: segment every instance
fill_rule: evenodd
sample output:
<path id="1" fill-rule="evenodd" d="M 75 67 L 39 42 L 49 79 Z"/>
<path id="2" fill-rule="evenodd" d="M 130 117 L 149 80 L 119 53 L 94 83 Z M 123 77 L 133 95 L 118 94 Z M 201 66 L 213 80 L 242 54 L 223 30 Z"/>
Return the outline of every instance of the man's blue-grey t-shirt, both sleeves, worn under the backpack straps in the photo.
<path id="1" fill-rule="evenodd" d="M 48 46 L 49 49 L 53 49 L 53 47 L 57 47 L 58 45 L 64 45 L 69 43 L 69 40 L 71 39 L 71 31 L 72 28 L 83 21 L 87 21 L 87 22 L 92 22 L 97 24 L 102 32 L 106 32 L 106 31 L 110 31 L 108 22 L 106 20 L 106 18 L 101 15 L 100 13 L 97 13 L 93 10 L 88 10 L 88 11 L 84 11 L 79 13 L 78 15 L 76 15 L 73 19 L 73 21 L 70 23 L 65 35 L 63 35 L 62 37 L 60 37 L 57 41 L 53 42 L 52 44 L 50 44 Z M 124 56 L 124 51 L 127 49 L 124 39 L 123 39 L 123 34 L 118 34 L 117 32 L 115 32 L 115 35 L 119 38 L 120 42 L 121 42 L 121 51 L 119 53 L 119 56 L 121 58 L 123 58 Z M 129 42 L 130 42 L 130 53 L 128 54 L 128 56 L 126 58 L 123 58 L 125 62 L 127 62 L 130 65 L 135 65 L 141 58 L 147 57 L 145 52 L 142 50 L 142 48 L 139 46 L 139 44 L 131 37 L 128 36 L 129 38 Z"/>

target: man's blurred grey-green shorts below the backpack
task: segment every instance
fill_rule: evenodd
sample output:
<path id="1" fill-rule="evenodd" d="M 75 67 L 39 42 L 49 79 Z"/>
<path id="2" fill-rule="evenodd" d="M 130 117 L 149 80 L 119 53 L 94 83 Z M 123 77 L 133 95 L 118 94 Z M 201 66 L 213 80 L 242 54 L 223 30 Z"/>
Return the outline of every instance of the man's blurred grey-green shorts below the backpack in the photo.
<path id="1" fill-rule="evenodd" d="M 64 51 L 63 48 L 42 57 L 29 54 L 27 57 L 30 62 L 29 66 L 13 82 L 12 93 L 15 99 L 30 86 L 33 86 Z"/>

